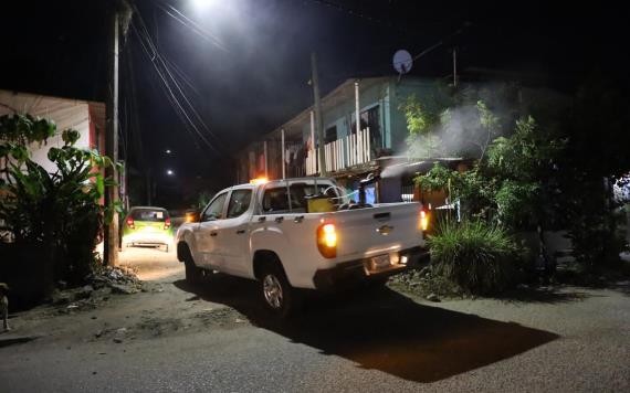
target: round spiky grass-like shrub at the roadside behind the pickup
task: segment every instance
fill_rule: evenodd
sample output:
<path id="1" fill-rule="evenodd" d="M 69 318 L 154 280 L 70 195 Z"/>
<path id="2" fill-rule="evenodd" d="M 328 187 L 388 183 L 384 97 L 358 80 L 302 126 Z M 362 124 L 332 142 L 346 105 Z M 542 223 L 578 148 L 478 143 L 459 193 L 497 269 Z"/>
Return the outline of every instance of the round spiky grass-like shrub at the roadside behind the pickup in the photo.
<path id="1" fill-rule="evenodd" d="M 435 273 L 470 294 L 500 291 L 516 274 L 516 243 L 496 224 L 444 221 L 429 245 Z"/>

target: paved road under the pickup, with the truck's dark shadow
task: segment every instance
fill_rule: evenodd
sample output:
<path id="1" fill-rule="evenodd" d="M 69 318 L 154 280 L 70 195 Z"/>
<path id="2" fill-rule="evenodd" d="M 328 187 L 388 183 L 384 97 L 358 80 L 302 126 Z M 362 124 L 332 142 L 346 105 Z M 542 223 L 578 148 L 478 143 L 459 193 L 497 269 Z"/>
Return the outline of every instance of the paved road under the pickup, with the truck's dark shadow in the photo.
<path id="1" fill-rule="evenodd" d="M 17 331 L 0 336 L 1 392 L 630 391 L 628 283 L 527 301 L 354 291 L 311 299 L 281 325 L 253 306 L 253 283 L 193 287 L 172 253 L 124 257 L 149 290 L 13 318 Z"/>

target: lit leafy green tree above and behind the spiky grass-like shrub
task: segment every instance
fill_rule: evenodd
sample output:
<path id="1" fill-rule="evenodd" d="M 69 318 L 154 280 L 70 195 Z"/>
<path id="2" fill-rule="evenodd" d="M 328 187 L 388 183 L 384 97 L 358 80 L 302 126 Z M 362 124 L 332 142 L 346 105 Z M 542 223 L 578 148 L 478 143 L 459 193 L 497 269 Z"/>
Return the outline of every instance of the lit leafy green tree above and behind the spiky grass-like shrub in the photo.
<path id="1" fill-rule="evenodd" d="M 494 135 L 500 118 L 483 103 L 477 106 L 487 135 Z M 460 173 L 435 164 L 416 181 L 423 190 L 448 190 L 451 200 L 460 200 L 470 216 L 501 222 L 514 230 L 532 229 L 553 221 L 553 212 L 545 208 L 555 198 L 558 174 L 554 160 L 564 145 L 527 116 L 515 121 L 508 136 L 495 138 L 474 169 Z"/>

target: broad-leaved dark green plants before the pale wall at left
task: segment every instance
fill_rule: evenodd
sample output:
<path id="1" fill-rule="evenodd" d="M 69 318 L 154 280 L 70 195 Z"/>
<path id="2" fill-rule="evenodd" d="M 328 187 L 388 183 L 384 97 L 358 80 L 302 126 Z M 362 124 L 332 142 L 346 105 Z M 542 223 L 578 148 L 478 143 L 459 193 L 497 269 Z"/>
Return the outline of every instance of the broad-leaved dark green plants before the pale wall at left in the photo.
<path id="1" fill-rule="evenodd" d="M 28 127 L 54 129 L 54 124 L 44 127 L 42 121 L 46 120 L 27 123 L 21 130 L 42 135 Z M 6 117 L 0 118 L 0 124 L 7 124 Z M 56 164 L 54 173 L 24 155 L 20 144 L 4 144 L 1 149 L 9 164 L 8 181 L 2 184 L 8 197 L 0 203 L 0 219 L 11 229 L 14 243 L 51 249 L 55 279 L 69 283 L 80 283 L 91 272 L 103 220 L 119 209 L 99 204 L 103 184 L 111 182 L 104 179 L 102 169 L 112 161 L 96 151 L 74 147 L 78 136 L 75 130 L 64 130 L 64 146 L 50 149 L 48 158 Z"/>

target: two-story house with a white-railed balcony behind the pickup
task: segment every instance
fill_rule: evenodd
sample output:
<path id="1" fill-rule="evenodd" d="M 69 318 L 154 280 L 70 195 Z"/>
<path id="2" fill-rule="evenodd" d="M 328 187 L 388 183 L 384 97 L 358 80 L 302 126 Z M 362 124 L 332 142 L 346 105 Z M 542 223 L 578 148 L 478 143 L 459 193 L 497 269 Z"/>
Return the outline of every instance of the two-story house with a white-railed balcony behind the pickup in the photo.
<path id="1" fill-rule="evenodd" d="M 328 93 L 322 98 L 326 174 L 351 192 L 367 174 L 406 161 L 408 130 L 400 106 L 410 95 L 421 98 L 437 91 L 434 79 L 385 76 L 347 79 Z M 317 176 L 317 147 L 309 107 L 237 155 L 238 180 Z M 368 201 L 411 199 L 413 172 L 398 172 L 369 189 Z"/>

